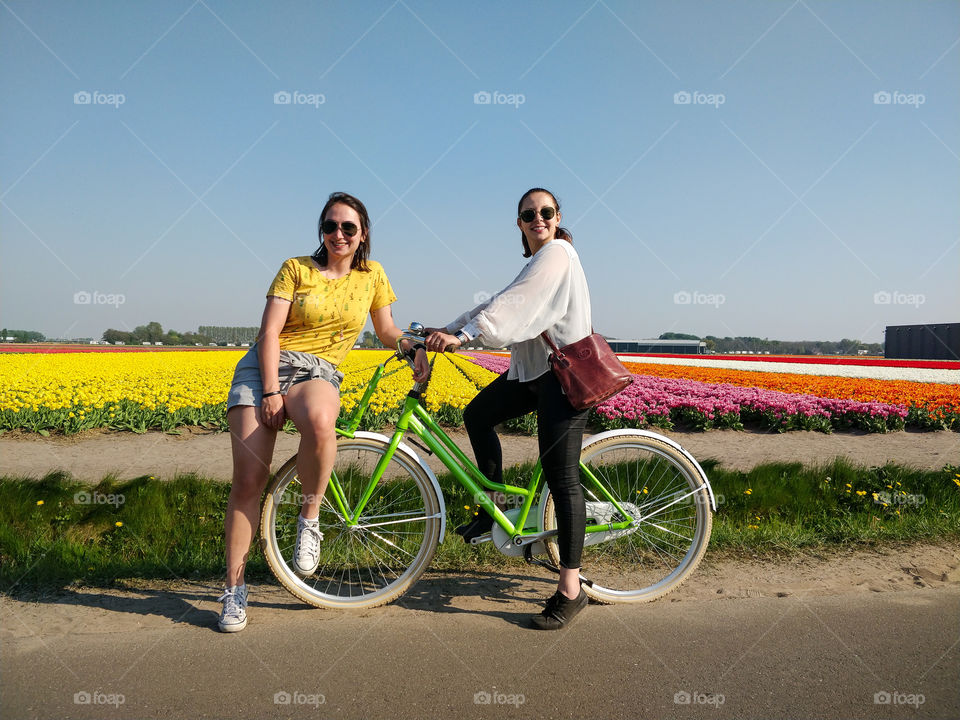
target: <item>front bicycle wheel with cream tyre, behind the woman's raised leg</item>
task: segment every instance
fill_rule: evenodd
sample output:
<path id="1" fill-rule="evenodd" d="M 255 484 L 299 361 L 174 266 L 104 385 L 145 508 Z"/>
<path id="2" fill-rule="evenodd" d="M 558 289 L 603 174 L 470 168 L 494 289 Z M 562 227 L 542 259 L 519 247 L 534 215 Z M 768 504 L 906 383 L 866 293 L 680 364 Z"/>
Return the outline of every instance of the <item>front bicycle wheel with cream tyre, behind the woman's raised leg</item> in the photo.
<path id="1" fill-rule="evenodd" d="M 353 513 L 387 444 L 367 438 L 341 440 L 332 478 Z M 320 564 L 301 578 L 292 567 L 302 501 L 296 456 L 267 487 L 260 520 L 267 564 L 296 597 L 317 607 L 370 608 L 402 595 L 423 574 L 440 538 L 441 503 L 419 464 L 397 451 L 358 522 L 345 517 L 328 488 L 320 506 Z"/>

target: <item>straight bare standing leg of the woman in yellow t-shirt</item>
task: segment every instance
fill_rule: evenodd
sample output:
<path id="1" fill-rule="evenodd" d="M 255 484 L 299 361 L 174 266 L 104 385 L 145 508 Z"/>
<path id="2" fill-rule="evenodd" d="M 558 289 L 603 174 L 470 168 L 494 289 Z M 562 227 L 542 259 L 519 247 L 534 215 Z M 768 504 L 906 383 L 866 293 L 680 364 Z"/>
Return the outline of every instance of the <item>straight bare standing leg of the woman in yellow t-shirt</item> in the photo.
<path id="1" fill-rule="evenodd" d="M 277 439 L 276 431 L 260 423 L 257 412 L 255 407 L 238 405 L 227 413 L 233 449 L 233 484 L 224 518 L 228 587 L 243 584 Z"/>

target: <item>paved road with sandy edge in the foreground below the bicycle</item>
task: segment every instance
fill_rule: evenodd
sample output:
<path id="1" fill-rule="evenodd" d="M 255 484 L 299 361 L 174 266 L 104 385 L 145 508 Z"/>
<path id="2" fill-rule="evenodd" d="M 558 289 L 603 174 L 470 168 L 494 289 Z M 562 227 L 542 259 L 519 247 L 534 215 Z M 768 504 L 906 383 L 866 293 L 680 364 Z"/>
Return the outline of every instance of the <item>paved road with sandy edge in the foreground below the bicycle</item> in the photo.
<path id="1" fill-rule="evenodd" d="M 549 581 L 437 575 L 316 610 L 252 589 L 3 598 L 4 718 L 960 717 L 960 588 L 589 606 L 526 629 Z"/>

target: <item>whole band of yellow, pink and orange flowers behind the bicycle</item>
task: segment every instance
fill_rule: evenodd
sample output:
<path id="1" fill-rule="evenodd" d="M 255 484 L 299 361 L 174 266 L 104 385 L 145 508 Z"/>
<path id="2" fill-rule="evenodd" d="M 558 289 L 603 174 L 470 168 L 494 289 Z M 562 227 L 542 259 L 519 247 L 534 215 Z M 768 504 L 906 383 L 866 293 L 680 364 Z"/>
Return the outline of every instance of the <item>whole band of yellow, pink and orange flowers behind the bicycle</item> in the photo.
<path id="1" fill-rule="evenodd" d="M 374 367 L 388 355 L 386 350 L 358 350 L 341 365 L 344 415 L 356 408 Z M 0 354 L 0 429 L 223 429 L 226 394 L 239 357 L 235 350 Z M 424 402 L 441 422 L 458 425 L 466 404 L 508 366 L 509 357 L 500 355 L 438 355 Z M 824 432 L 846 427 L 960 430 L 960 397 L 954 386 L 671 365 L 632 364 L 631 370 L 634 384 L 592 411 L 594 427 L 679 423 L 702 429 L 750 424 Z M 384 377 L 364 426 L 394 420 L 411 384 L 406 367 Z"/>

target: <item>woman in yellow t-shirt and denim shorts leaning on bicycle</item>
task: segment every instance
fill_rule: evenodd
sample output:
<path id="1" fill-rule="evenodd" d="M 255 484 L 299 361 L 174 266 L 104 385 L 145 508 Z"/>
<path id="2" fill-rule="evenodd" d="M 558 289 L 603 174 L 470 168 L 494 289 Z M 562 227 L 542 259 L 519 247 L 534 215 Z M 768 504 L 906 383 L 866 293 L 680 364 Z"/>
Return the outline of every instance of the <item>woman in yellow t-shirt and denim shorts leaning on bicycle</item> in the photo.
<path id="1" fill-rule="evenodd" d="M 396 347 L 401 335 L 390 312 L 397 296 L 380 263 L 367 259 L 370 217 L 363 203 L 333 193 L 320 213 L 319 233 L 317 252 L 287 260 L 270 285 L 257 343 L 237 364 L 227 400 L 233 484 L 224 522 L 227 587 L 219 620 L 224 632 L 247 624 L 244 566 L 277 430 L 289 418 L 300 432 L 297 473 L 304 501 L 293 567 L 306 577 L 317 568 L 323 539 L 317 517 L 337 453 L 334 424 L 343 379 L 337 365 L 368 312 L 386 347 Z M 430 368 L 423 346 L 406 349 L 415 353 L 414 377 L 426 379 Z"/>

